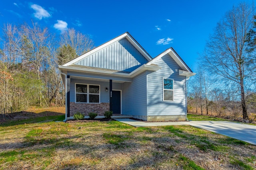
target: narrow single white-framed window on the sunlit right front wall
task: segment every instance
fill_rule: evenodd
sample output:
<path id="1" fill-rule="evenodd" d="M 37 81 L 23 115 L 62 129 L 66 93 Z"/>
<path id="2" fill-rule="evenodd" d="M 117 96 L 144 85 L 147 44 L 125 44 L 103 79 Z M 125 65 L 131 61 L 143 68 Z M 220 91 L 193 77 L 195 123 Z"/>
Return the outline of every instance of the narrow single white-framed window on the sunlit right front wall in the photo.
<path id="1" fill-rule="evenodd" d="M 163 78 L 163 101 L 174 101 L 173 84 L 173 79 Z"/>

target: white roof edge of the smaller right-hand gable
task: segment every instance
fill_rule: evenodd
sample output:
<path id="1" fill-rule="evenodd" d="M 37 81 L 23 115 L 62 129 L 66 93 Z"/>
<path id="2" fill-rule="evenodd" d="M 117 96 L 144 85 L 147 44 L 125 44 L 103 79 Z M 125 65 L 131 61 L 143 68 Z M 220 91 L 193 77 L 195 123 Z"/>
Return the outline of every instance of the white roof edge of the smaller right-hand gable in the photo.
<path id="1" fill-rule="evenodd" d="M 156 56 L 154 59 L 152 59 L 151 61 L 149 61 L 146 64 L 148 64 L 148 65 L 153 64 L 156 61 L 158 61 L 159 59 L 161 59 L 166 54 L 170 55 L 170 57 L 172 57 L 172 59 L 174 59 L 174 61 L 180 66 L 180 68 L 182 68 L 182 70 L 187 71 L 187 72 L 192 72 L 192 70 L 180 58 L 180 56 L 176 53 L 176 51 L 174 51 L 174 49 L 172 47 L 169 49 L 166 49 L 164 52 L 162 52 L 161 54 L 159 54 L 158 56 Z"/>

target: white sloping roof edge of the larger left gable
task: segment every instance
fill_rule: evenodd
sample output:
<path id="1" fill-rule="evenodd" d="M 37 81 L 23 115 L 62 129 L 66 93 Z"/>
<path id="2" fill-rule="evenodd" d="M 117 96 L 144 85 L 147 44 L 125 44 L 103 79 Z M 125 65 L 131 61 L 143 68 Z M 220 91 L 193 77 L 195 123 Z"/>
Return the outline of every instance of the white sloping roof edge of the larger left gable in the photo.
<path id="1" fill-rule="evenodd" d="M 104 47 L 107 47 L 108 45 L 111 45 L 112 43 L 115 43 L 116 41 L 120 41 L 121 39 L 126 38 L 142 55 L 143 57 L 145 57 L 145 59 L 147 61 L 152 60 L 152 57 L 141 47 L 141 45 L 128 33 L 123 33 L 122 35 L 119 35 L 118 37 L 92 49 L 91 51 L 88 51 L 87 53 L 80 55 L 79 57 L 73 59 L 72 61 L 69 61 L 66 64 L 63 64 L 62 66 L 70 66 L 74 63 L 76 63 L 77 61 L 80 61 L 90 55 L 92 55 L 93 53 L 95 53 L 96 51 L 103 49 Z"/>

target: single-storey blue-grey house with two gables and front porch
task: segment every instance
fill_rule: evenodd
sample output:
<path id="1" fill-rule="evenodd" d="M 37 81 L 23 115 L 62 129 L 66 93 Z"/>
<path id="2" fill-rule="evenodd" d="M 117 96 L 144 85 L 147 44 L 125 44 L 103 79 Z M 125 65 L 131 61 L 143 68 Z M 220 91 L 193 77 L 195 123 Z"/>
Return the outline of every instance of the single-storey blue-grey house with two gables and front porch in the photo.
<path id="1" fill-rule="evenodd" d="M 173 48 L 152 59 L 126 32 L 59 70 L 66 119 L 112 110 L 146 121 L 186 120 L 186 80 L 195 73 Z"/>

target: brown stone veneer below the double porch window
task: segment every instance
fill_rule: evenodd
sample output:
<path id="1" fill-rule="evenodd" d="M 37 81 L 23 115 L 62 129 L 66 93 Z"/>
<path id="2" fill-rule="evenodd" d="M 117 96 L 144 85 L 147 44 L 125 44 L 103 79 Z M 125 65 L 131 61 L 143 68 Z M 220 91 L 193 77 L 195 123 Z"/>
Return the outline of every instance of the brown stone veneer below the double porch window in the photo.
<path id="1" fill-rule="evenodd" d="M 80 112 L 88 116 L 90 112 L 97 113 L 99 116 L 103 116 L 105 111 L 109 111 L 109 103 L 75 103 L 70 102 L 70 117 L 76 112 Z"/>

